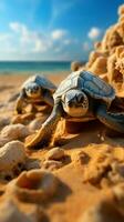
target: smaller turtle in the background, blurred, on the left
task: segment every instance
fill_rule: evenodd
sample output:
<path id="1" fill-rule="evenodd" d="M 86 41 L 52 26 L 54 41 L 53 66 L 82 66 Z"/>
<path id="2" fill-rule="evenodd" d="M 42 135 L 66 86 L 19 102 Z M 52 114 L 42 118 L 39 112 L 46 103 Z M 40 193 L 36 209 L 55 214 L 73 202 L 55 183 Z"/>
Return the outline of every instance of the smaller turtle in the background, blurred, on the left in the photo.
<path id="1" fill-rule="evenodd" d="M 41 74 L 30 77 L 21 87 L 21 92 L 17 100 L 16 110 L 18 113 L 22 113 L 23 103 L 31 104 L 45 104 L 53 107 L 53 97 L 56 87 Z"/>

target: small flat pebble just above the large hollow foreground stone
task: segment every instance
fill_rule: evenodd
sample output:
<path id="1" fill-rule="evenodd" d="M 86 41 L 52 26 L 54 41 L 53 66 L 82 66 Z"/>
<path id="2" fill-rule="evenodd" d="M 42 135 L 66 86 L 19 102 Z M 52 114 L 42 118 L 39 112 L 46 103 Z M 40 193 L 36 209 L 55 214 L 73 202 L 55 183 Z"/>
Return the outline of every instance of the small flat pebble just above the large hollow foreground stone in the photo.
<path id="1" fill-rule="evenodd" d="M 42 163 L 42 169 L 49 170 L 49 171 L 53 171 L 53 170 L 58 170 L 60 168 L 62 168 L 62 162 L 60 161 L 55 161 L 55 160 L 45 160 Z"/>

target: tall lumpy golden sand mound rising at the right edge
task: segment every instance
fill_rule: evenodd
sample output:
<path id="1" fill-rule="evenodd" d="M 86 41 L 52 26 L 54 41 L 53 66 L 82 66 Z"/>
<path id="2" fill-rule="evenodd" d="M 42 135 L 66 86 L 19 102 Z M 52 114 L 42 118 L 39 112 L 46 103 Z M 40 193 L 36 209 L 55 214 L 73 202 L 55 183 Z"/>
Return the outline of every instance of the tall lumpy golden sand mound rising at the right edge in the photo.
<path id="1" fill-rule="evenodd" d="M 89 70 L 123 91 L 124 75 L 124 4 L 118 8 L 118 20 L 111 26 L 101 42 L 94 43 L 85 65 L 72 62 L 71 70 Z"/>

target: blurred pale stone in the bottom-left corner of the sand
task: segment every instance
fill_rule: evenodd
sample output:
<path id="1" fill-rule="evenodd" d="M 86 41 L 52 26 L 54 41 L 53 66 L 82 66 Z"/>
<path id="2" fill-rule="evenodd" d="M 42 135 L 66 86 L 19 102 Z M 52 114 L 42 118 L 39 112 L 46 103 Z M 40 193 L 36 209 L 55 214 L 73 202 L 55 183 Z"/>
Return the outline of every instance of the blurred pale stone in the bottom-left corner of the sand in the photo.
<path id="1" fill-rule="evenodd" d="M 1 222 L 37 222 L 20 211 L 13 201 L 7 201 L 0 205 Z"/>

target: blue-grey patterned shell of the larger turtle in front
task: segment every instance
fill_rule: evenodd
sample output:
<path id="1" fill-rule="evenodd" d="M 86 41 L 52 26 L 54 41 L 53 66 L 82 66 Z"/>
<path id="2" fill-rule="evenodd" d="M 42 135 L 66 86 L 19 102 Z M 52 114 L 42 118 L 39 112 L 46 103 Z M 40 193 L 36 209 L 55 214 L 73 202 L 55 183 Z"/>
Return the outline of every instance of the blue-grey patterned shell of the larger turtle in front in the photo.
<path id="1" fill-rule="evenodd" d="M 94 99 L 102 99 L 107 104 L 111 104 L 115 99 L 114 89 L 97 75 L 94 75 L 89 71 L 72 72 L 59 85 L 58 90 L 53 94 L 54 100 L 61 98 L 62 94 L 68 92 L 70 89 L 82 90 Z"/>

